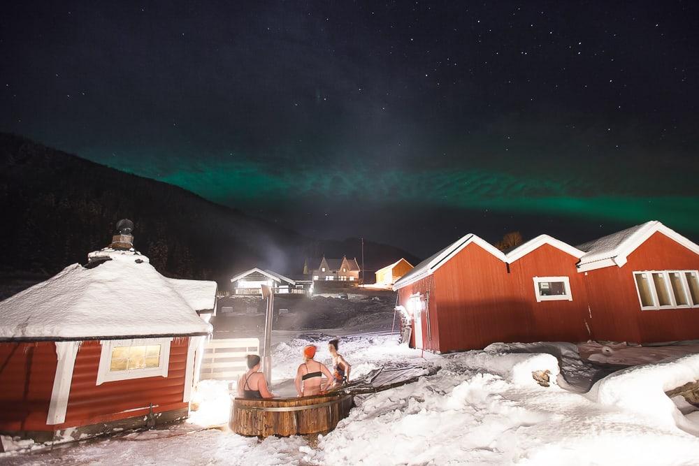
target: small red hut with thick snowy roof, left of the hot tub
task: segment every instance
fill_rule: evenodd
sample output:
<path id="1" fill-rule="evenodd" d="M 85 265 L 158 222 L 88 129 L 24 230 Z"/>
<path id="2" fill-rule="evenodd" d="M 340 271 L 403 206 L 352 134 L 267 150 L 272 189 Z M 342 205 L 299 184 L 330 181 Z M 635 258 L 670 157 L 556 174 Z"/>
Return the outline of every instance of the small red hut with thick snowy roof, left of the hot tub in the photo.
<path id="1" fill-rule="evenodd" d="M 0 303 L 0 433 L 99 435 L 189 413 L 215 282 L 168 279 L 103 249 Z M 200 309 L 197 309 L 200 308 Z"/>

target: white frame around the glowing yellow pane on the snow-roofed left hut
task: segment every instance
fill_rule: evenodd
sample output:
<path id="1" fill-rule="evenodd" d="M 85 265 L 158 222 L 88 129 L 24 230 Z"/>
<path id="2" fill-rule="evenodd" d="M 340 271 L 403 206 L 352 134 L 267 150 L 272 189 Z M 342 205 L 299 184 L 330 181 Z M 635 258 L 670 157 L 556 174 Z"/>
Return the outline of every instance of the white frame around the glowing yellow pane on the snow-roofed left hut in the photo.
<path id="1" fill-rule="evenodd" d="M 134 340 L 102 340 L 102 352 L 99 356 L 99 368 L 97 370 L 97 385 L 104 382 L 129 379 L 143 379 L 145 377 L 168 377 L 168 367 L 170 365 L 170 342 L 169 338 L 138 338 Z M 109 367 L 112 359 L 112 350 L 115 347 L 138 347 L 143 345 L 160 345 L 160 363 L 158 367 L 147 367 L 145 369 L 128 369 L 110 371 Z"/>

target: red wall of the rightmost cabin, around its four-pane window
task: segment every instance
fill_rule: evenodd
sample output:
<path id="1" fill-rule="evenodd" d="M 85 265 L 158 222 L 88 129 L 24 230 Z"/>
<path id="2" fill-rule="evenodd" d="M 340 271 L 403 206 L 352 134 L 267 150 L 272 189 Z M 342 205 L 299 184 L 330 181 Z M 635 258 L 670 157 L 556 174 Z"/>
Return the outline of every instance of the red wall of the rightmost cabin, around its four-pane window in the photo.
<path id="1" fill-rule="evenodd" d="M 698 254 L 658 232 L 637 247 L 621 268 L 590 270 L 584 279 L 593 337 L 637 343 L 699 338 L 699 308 L 642 311 L 633 280 L 633 272 L 643 270 L 698 269 Z"/>

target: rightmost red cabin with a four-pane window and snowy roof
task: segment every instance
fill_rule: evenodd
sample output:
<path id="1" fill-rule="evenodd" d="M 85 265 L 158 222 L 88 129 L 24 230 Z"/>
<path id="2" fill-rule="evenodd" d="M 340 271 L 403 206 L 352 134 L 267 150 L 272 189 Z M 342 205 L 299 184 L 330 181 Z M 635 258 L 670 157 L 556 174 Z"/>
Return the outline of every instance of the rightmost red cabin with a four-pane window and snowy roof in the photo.
<path id="1" fill-rule="evenodd" d="M 699 245 L 649 221 L 579 249 L 596 340 L 699 338 Z"/>

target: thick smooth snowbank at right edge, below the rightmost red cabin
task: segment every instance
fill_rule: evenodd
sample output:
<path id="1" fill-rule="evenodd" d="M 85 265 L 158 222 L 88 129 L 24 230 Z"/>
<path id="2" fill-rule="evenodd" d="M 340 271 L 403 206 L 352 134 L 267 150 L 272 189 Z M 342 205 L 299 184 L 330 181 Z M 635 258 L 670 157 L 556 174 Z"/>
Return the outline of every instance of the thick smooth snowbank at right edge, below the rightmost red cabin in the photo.
<path id="1" fill-rule="evenodd" d="M 699 435 L 699 425 L 679 412 L 665 392 L 699 380 L 699 354 L 667 363 L 639 365 L 614 372 L 598 381 L 589 398 L 602 405 L 613 405 L 652 416 L 663 425 Z"/>

